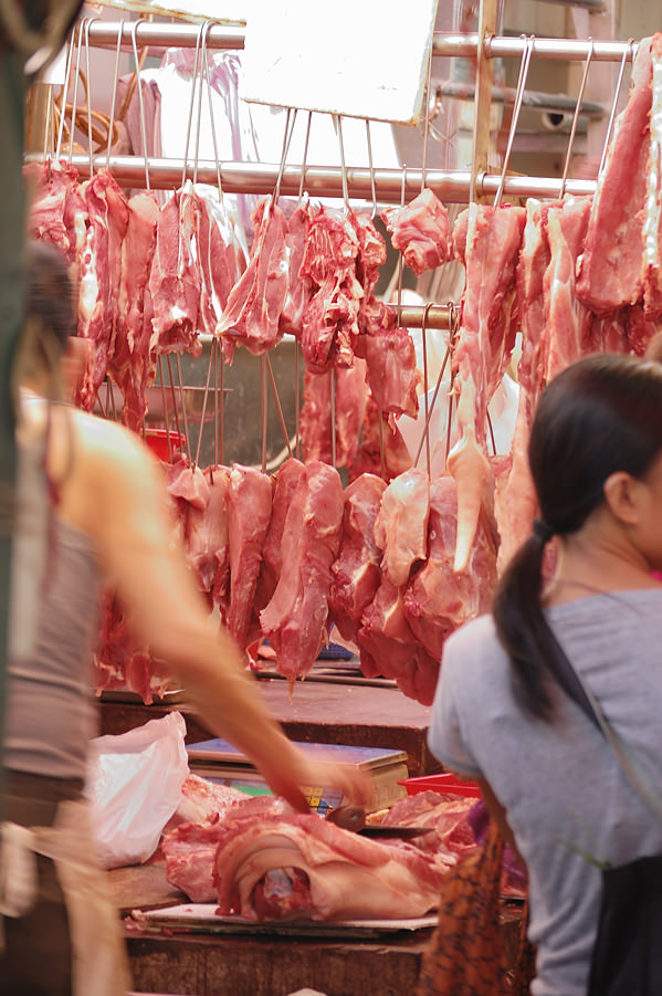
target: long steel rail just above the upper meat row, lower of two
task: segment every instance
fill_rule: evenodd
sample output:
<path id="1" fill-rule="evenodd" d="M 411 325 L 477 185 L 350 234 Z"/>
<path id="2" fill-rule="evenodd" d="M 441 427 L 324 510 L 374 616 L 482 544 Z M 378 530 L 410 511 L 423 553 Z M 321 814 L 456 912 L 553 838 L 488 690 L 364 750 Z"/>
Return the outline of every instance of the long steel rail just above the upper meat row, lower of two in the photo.
<path id="1" fill-rule="evenodd" d="M 27 162 L 48 161 L 41 153 L 31 153 L 25 156 Z M 90 156 L 77 155 L 71 159 L 66 157 L 78 170 L 82 177 L 91 175 Z M 155 190 L 166 190 L 179 187 L 182 176 L 187 179 L 196 179 L 200 184 L 218 184 L 219 170 L 221 187 L 228 193 L 272 193 L 279 178 L 280 167 L 267 162 L 237 162 L 227 161 L 219 165 L 209 159 L 200 159 L 196 165 L 183 159 L 151 159 L 147 164 L 141 156 L 111 156 L 105 153 L 92 158 L 94 172 L 105 169 L 109 171 L 123 187 L 145 189 L 146 170 L 149 176 L 149 186 Z M 421 191 L 421 186 L 430 187 L 440 200 L 446 203 L 469 203 L 471 171 L 470 170 L 441 170 L 441 169 L 367 169 L 348 167 L 345 170 L 347 179 L 347 193 L 350 198 L 372 200 L 372 185 L 378 202 L 400 203 L 402 198 L 408 201 Z M 298 197 L 302 180 L 301 166 L 286 166 L 280 185 L 282 197 Z M 476 178 L 476 193 L 488 196 L 496 193 L 501 184 L 501 174 L 479 174 Z M 341 198 L 344 192 L 343 170 L 333 166 L 306 166 L 304 176 L 304 189 L 316 197 Z M 567 180 L 551 177 L 506 177 L 504 196 L 509 198 L 539 197 L 543 199 L 561 197 L 565 193 L 581 196 L 593 193 L 595 180 Z"/>

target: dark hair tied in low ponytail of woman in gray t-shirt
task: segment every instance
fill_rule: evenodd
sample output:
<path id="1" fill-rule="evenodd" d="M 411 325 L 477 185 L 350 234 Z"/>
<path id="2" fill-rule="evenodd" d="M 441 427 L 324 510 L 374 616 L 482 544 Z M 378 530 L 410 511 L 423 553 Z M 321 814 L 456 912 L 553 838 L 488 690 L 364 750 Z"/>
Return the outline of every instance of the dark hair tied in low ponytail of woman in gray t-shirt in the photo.
<path id="1" fill-rule="evenodd" d="M 662 453 L 662 366 L 596 354 L 559 374 L 534 417 L 528 460 L 540 521 L 497 585 L 493 615 L 518 694 L 549 716 L 549 678 L 567 688 L 564 651 L 542 607 L 543 556 L 551 535 L 581 528 L 617 471 L 645 475 Z"/>

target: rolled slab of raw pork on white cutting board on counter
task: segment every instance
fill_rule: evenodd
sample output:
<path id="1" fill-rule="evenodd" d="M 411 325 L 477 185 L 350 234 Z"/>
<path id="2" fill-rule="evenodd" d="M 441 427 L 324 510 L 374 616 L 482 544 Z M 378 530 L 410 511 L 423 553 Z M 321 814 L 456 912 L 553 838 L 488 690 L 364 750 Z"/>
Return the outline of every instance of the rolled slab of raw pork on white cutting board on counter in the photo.
<path id="1" fill-rule="evenodd" d="M 214 862 L 222 915 L 401 919 L 439 905 L 449 866 L 412 843 L 370 840 L 279 799 L 244 803 L 223 827 Z"/>

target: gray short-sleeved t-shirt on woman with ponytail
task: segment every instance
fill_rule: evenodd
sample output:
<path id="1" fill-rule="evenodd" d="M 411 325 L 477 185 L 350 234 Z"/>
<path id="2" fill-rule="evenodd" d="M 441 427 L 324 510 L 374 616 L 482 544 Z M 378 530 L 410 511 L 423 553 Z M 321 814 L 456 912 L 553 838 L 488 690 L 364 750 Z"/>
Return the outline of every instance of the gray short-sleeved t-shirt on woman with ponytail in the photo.
<path id="1" fill-rule="evenodd" d="M 662 590 L 593 595 L 548 618 L 662 796 Z M 485 778 L 529 876 L 534 996 L 585 996 L 600 867 L 662 852 L 662 826 L 600 732 L 560 691 L 553 722 L 523 712 L 492 617 L 445 643 L 428 735 L 446 767 Z"/>

